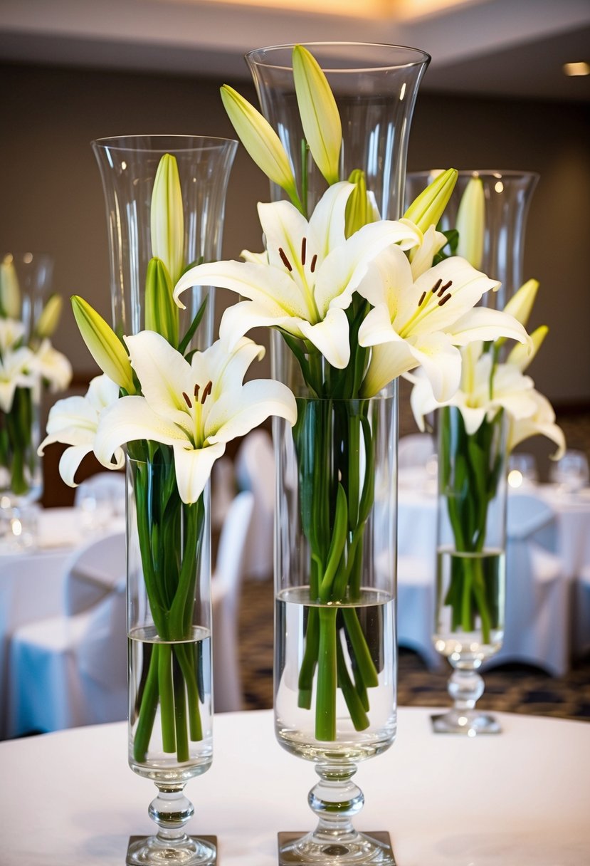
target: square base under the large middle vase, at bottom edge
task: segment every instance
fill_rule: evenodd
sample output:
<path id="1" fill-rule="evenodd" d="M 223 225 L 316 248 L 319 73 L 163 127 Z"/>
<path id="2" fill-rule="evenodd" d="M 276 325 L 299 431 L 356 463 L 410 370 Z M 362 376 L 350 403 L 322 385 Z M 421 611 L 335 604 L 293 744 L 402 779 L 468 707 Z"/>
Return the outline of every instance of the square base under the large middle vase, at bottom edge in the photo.
<path id="1" fill-rule="evenodd" d="M 312 834 L 307 834 L 311 837 Z M 304 841 L 305 833 L 281 832 L 279 838 L 279 866 L 293 866 L 294 863 L 316 863 L 317 866 L 345 866 L 348 863 L 375 863 L 379 866 L 395 866 L 394 850 L 387 830 L 370 830 L 367 833 L 358 833 L 359 844 L 355 851 L 343 850 L 343 846 L 332 844 L 324 845 L 322 850 L 311 850 L 307 852 L 294 843 Z M 363 845 L 366 843 L 366 845 Z M 306 848 L 307 846 L 302 846 Z M 362 849 L 365 850 L 362 850 Z M 307 856 L 306 856 L 307 853 Z"/>

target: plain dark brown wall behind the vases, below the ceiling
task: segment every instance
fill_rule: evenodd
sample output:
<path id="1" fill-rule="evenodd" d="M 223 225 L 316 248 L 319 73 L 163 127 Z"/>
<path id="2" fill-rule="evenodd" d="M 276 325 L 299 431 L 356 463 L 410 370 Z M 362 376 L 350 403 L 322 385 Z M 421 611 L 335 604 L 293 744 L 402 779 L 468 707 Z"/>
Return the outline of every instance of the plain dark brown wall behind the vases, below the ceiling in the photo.
<path id="1" fill-rule="evenodd" d="M 0 81 L 0 248 L 51 253 L 55 289 L 84 295 L 108 318 L 106 220 L 89 142 L 155 132 L 233 137 L 218 94 L 223 82 L 24 66 L 0 66 Z M 255 99 L 249 82 L 229 83 Z M 551 333 L 531 372 L 561 404 L 590 402 L 589 126 L 582 105 L 422 93 L 408 158 L 410 170 L 454 165 L 541 174 L 524 276 L 542 282 L 531 325 L 547 323 Z M 255 204 L 267 196 L 266 178 L 240 148 L 224 255 L 261 249 Z M 228 300 L 220 292 L 218 309 Z M 93 372 L 69 310 L 55 342 L 76 372 Z"/>

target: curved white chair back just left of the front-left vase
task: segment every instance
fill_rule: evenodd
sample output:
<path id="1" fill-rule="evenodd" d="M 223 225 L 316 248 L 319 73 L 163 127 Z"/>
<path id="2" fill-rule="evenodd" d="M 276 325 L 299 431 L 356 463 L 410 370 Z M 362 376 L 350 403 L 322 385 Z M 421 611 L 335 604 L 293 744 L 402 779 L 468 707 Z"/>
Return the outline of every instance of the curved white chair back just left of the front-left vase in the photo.
<path id="1" fill-rule="evenodd" d="M 125 533 L 112 533 L 76 551 L 67 564 L 64 611 L 87 611 L 112 592 L 125 569 Z"/>

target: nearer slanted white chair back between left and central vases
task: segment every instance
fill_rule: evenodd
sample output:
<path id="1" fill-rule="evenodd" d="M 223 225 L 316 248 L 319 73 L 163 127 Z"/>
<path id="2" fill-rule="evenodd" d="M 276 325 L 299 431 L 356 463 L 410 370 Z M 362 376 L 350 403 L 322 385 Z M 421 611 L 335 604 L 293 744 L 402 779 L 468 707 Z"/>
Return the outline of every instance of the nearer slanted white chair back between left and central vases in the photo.
<path id="1" fill-rule="evenodd" d="M 238 615 L 248 530 L 252 532 L 254 495 L 238 494 L 221 528 L 211 582 L 213 617 L 213 697 L 215 712 L 241 709 Z"/>

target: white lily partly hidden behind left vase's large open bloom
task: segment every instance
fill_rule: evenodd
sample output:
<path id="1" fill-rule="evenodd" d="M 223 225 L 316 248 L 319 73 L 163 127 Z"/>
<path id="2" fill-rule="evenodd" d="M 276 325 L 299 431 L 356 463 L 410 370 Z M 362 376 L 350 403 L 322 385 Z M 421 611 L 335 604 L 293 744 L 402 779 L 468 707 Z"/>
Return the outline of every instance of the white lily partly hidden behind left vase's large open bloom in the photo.
<path id="1" fill-rule="evenodd" d="M 94 449 L 94 440 L 99 419 L 108 406 L 119 399 L 119 385 L 104 374 L 91 381 L 84 397 L 66 397 L 58 400 L 49 410 L 47 433 L 39 446 L 39 454 L 48 445 L 60 442 L 70 445 L 60 459 L 60 475 L 69 487 L 75 487 L 74 475 L 83 458 Z M 106 469 L 121 469 L 125 463 L 123 450 L 113 449 L 112 455 L 100 461 Z M 100 460 L 100 458 L 99 458 Z"/>

